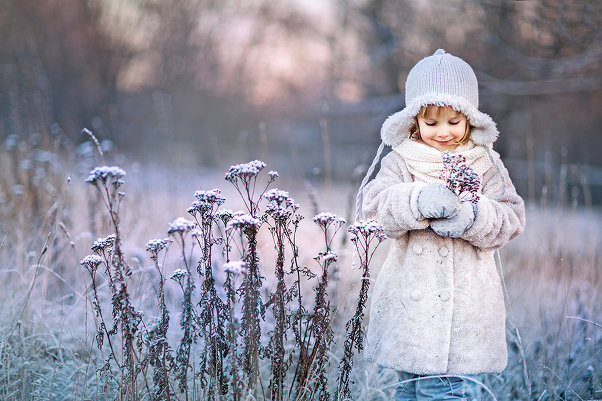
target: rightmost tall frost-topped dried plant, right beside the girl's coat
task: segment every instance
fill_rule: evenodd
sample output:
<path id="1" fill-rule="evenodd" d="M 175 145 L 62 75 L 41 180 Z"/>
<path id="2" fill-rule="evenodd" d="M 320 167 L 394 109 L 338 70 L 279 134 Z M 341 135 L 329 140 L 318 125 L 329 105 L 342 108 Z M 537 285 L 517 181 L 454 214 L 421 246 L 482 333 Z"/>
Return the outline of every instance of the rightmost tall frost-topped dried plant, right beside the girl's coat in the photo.
<path id="1" fill-rule="evenodd" d="M 339 379 L 337 391 L 334 394 L 335 400 L 350 399 L 351 397 L 349 376 L 353 367 L 353 349 L 355 348 L 358 352 L 361 352 L 364 348 L 362 320 L 364 319 L 364 310 L 366 309 L 368 288 L 370 286 L 369 266 L 376 248 L 386 239 L 382 225 L 372 219 L 355 222 L 348 228 L 348 231 L 352 235 L 351 241 L 360 258 L 362 285 L 360 287 L 355 314 L 345 325 L 345 349 L 343 358 L 339 363 Z M 373 245 L 375 240 L 377 243 Z"/>

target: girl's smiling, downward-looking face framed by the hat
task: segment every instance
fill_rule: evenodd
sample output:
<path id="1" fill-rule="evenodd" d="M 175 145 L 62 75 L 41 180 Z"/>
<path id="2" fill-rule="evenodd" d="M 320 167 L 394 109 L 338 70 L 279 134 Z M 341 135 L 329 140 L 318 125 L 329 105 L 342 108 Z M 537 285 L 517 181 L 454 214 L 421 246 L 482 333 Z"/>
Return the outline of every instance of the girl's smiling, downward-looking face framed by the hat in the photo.
<path id="1" fill-rule="evenodd" d="M 439 107 L 439 113 L 418 117 L 420 139 L 429 146 L 440 150 L 452 150 L 464 138 L 466 116 L 451 107 Z"/>

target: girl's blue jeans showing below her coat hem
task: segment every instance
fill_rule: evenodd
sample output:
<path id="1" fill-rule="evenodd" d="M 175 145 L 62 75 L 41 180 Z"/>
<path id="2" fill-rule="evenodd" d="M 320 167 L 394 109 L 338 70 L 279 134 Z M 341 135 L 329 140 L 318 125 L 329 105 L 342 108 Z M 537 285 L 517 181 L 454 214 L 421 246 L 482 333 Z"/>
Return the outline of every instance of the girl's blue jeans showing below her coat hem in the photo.
<path id="1" fill-rule="evenodd" d="M 395 401 L 438 401 L 480 400 L 479 385 L 471 380 L 458 376 L 423 378 L 424 376 L 407 372 L 399 372 L 401 383 L 395 389 Z M 482 381 L 481 377 L 465 375 Z"/>

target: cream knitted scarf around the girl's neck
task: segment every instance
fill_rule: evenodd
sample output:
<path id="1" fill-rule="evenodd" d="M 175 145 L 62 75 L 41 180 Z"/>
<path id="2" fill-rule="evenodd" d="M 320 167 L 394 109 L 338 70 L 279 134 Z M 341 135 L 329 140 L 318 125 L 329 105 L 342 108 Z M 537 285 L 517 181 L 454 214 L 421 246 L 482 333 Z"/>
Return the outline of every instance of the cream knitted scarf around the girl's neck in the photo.
<path id="1" fill-rule="evenodd" d="M 393 150 L 404 159 L 414 178 L 428 183 L 444 183 L 440 178 L 440 174 L 443 171 L 441 151 L 411 139 L 406 139 L 399 145 L 394 146 Z M 466 157 L 466 165 L 479 174 L 481 179 L 483 178 L 483 174 L 493 165 L 485 146 L 475 145 L 473 142 L 457 146 L 449 152 Z"/>

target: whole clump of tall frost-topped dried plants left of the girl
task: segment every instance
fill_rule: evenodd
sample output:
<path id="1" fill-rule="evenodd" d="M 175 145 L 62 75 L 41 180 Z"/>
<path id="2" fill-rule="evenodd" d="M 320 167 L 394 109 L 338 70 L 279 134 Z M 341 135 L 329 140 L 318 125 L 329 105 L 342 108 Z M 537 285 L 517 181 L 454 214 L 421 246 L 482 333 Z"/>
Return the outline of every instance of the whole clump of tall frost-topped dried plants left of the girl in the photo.
<path id="1" fill-rule="evenodd" d="M 166 238 L 146 243 L 154 262 L 151 278 L 158 315 L 144 323 L 128 291 L 129 277 L 136 278 L 142 269 L 131 276 L 125 273 L 129 268 L 118 228 L 122 196 L 117 189 L 125 172 L 117 167 L 90 172 L 88 182 L 102 195 L 114 234 L 94 241 L 94 255 L 80 263 L 92 278 L 91 304 L 98 319 L 96 342 L 101 352 L 109 355 L 103 372 L 108 378 L 118 368 L 121 377 L 117 379 L 126 383 L 118 385 L 123 387 L 119 399 L 134 399 L 128 397 L 140 394 L 149 400 L 325 401 L 333 392 L 348 394 L 353 350 L 361 348 L 358 333 L 373 248 L 369 244 L 384 239 L 382 227 L 367 221 L 352 225 L 349 231 L 362 254 L 365 280 L 356 314 L 346 326 L 351 340 L 345 343 L 341 365 L 345 373 L 338 387 L 328 373 L 335 352 L 333 328 L 339 324 L 334 318 L 337 306 L 329 297 L 335 289 L 329 290 L 328 281 L 341 258 L 333 240 L 345 220 L 332 213 L 313 217 L 321 233 L 317 240 L 325 246 L 314 258 L 319 272 L 312 272 L 299 259 L 297 230 L 303 219 L 299 205 L 287 191 L 270 188 L 278 173 L 270 171 L 262 177 L 264 169 L 265 163 L 255 160 L 234 165 L 226 174 L 244 202 L 243 211 L 220 209 L 226 199 L 219 189 L 196 191 L 187 209 L 188 219 L 175 219 Z M 260 260 L 258 239 L 265 238 L 260 236 L 262 232 L 271 234 L 276 256 L 272 262 Z M 177 265 L 166 273 L 158 258 L 163 252 L 164 262 L 168 261 L 166 249 L 173 243 L 180 255 Z M 216 245 L 222 247 L 221 258 L 215 258 Z M 365 253 L 366 249 L 370 252 Z M 271 272 L 269 263 L 273 263 Z M 263 272 L 275 280 L 266 280 Z M 166 283 L 170 280 L 182 291 L 176 327 L 170 327 L 167 294 L 169 286 L 175 284 Z M 311 297 L 304 295 L 308 291 L 302 286 L 306 284 L 312 286 Z M 110 297 L 112 315 L 103 315 L 103 302 L 109 299 L 103 291 Z M 177 333 L 171 346 L 168 331 Z"/>

